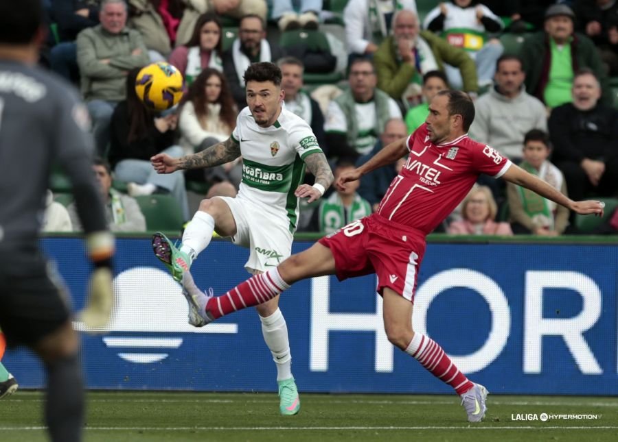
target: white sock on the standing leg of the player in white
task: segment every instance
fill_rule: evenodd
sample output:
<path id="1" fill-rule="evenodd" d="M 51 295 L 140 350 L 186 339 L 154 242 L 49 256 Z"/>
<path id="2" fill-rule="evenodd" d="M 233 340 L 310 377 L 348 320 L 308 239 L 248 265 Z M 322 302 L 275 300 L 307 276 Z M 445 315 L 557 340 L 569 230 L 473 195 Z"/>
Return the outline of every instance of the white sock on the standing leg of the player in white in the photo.
<path id="1" fill-rule="evenodd" d="M 277 308 L 277 311 L 269 317 L 260 316 L 260 321 L 262 321 L 264 342 L 271 349 L 273 360 L 277 365 L 277 380 L 290 379 L 292 377 L 292 354 L 290 354 L 286 319 L 281 310 Z"/>

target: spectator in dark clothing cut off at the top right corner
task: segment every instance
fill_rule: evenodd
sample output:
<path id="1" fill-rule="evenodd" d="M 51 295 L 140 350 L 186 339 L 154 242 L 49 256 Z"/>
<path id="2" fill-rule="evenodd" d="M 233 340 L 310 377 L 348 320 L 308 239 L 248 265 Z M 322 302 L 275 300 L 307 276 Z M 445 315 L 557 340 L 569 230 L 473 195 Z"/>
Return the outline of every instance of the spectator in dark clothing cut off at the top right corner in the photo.
<path id="1" fill-rule="evenodd" d="M 576 0 L 573 9 L 578 30 L 595 42 L 609 75 L 618 75 L 618 1 Z"/>

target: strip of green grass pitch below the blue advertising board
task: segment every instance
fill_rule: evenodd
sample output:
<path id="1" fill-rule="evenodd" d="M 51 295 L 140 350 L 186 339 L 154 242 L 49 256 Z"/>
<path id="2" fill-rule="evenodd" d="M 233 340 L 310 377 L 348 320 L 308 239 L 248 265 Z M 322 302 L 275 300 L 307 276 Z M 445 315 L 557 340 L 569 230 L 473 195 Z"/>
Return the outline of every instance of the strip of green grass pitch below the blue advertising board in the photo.
<path id="1" fill-rule="evenodd" d="M 45 441 L 43 395 L 0 401 L 0 441 Z M 88 393 L 85 440 L 94 441 L 618 441 L 618 398 L 498 396 L 480 424 L 457 396 L 301 395 L 279 416 L 271 393 Z M 525 415 L 588 419 L 514 420 Z M 595 419 L 593 419 L 593 416 Z"/>

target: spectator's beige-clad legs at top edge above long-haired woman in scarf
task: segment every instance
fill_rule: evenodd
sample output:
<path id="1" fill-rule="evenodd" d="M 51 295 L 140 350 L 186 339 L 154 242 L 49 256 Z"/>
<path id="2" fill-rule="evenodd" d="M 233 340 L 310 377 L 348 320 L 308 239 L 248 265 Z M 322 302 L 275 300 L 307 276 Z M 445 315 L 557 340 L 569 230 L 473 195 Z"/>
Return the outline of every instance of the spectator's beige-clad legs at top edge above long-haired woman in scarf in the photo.
<path id="1" fill-rule="evenodd" d="M 178 33 L 176 34 L 176 46 L 185 45 L 189 41 L 195 29 L 195 23 L 199 16 L 206 12 L 213 12 L 218 16 L 229 16 L 233 19 L 253 15 L 266 23 L 268 10 L 266 0 L 184 0 L 186 3 L 183 18 L 181 19 Z M 264 26 L 262 26 L 264 28 Z M 264 61 L 264 60 L 263 60 Z M 270 60 L 268 60 L 270 61 Z"/>

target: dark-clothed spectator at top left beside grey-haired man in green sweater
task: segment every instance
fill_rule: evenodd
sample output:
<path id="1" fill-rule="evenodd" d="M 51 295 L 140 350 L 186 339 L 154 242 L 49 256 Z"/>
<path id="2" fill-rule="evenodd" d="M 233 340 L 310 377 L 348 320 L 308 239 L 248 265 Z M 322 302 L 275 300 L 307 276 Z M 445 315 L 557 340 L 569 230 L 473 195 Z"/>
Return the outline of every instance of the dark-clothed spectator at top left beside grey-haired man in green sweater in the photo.
<path id="1" fill-rule="evenodd" d="M 49 66 L 69 82 L 78 83 L 80 69 L 77 64 L 78 34 L 87 27 L 99 24 L 100 0 L 55 0 L 52 18 L 58 27 L 60 42 L 49 52 Z"/>

